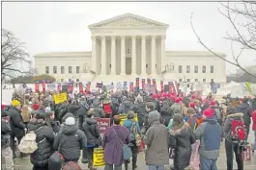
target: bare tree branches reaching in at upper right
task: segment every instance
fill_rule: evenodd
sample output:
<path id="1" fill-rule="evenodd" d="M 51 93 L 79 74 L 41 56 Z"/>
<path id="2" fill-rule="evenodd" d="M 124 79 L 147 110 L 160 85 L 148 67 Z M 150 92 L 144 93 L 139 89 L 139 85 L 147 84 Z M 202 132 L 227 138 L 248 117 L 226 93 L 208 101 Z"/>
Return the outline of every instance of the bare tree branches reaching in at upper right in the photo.
<path id="1" fill-rule="evenodd" d="M 224 7 L 224 12 L 219 12 L 227 18 L 228 22 L 232 25 L 233 29 L 235 30 L 236 35 L 231 36 L 227 33 L 227 36 L 224 37 L 231 41 L 231 50 L 232 50 L 232 58 L 233 61 L 227 60 L 224 57 L 217 55 L 216 53 L 211 50 L 207 44 L 205 44 L 201 37 L 196 33 L 195 28 L 192 23 L 193 13 L 191 14 L 190 24 L 192 30 L 197 37 L 199 43 L 201 43 L 208 51 L 210 51 L 215 57 L 223 61 L 227 61 L 244 71 L 249 76 L 256 78 L 256 74 L 246 70 L 240 63 L 240 57 L 242 56 L 243 50 L 253 50 L 256 53 L 256 2 L 252 1 L 242 1 L 240 3 L 235 3 L 232 6 L 229 2 L 227 4 L 221 4 Z M 235 16 L 234 16 L 235 15 Z M 241 23 L 237 21 L 237 18 L 245 18 L 246 23 Z M 243 34 L 242 34 L 243 32 Z M 233 43 L 237 42 L 242 45 L 242 50 L 238 55 L 234 54 Z"/>

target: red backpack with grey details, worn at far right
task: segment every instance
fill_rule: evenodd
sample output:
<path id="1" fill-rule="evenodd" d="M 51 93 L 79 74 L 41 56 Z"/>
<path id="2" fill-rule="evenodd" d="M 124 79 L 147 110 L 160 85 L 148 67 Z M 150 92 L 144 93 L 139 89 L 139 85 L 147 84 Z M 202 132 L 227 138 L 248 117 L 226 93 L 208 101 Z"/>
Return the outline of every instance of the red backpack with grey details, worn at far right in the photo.
<path id="1" fill-rule="evenodd" d="M 242 118 L 234 118 L 231 124 L 231 139 L 233 143 L 243 143 L 246 138 L 246 130 Z"/>

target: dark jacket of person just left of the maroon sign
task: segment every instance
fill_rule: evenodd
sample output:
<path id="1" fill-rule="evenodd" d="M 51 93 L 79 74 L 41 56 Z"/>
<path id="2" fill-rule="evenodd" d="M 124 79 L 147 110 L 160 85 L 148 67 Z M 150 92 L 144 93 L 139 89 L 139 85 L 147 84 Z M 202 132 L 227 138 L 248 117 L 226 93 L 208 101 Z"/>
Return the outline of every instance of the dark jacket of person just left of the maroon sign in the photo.
<path id="1" fill-rule="evenodd" d="M 82 127 L 87 137 L 87 146 L 96 146 L 100 139 L 100 126 L 97 121 L 93 118 L 86 118 Z"/>

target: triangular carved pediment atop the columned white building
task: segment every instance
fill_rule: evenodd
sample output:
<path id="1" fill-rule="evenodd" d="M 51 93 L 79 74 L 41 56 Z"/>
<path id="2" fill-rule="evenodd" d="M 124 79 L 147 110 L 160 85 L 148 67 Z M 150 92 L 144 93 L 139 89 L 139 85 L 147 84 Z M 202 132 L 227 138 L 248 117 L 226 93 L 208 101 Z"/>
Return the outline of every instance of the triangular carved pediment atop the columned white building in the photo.
<path id="1" fill-rule="evenodd" d="M 168 27 L 168 25 L 136 14 L 125 13 L 89 26 L 90 29 L 116 27 Z"/>

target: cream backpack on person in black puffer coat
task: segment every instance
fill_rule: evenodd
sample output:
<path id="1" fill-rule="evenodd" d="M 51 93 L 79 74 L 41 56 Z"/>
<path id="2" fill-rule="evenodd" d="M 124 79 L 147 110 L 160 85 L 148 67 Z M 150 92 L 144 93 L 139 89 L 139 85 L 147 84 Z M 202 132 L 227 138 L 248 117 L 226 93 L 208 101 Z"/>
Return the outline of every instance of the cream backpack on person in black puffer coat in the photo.
<path id="1" fill-rule="evenodd" d="M 38 144 L 42 143 L 43 140 L 45 140 L 45 137 L 43 138 L 42 141 L 37 143 L 36 142 L 37 134 L 35 134 L 35 132 L 39 131 L 42 128 L 43 127 L 40 127 L 36 131 L 31 131 L 28 134 L 25 134 L 25 136 L 21 138 L 21 141 L 18 145 L 18 149 L 21 153 L 32 154 L 38 149 Z"/>

